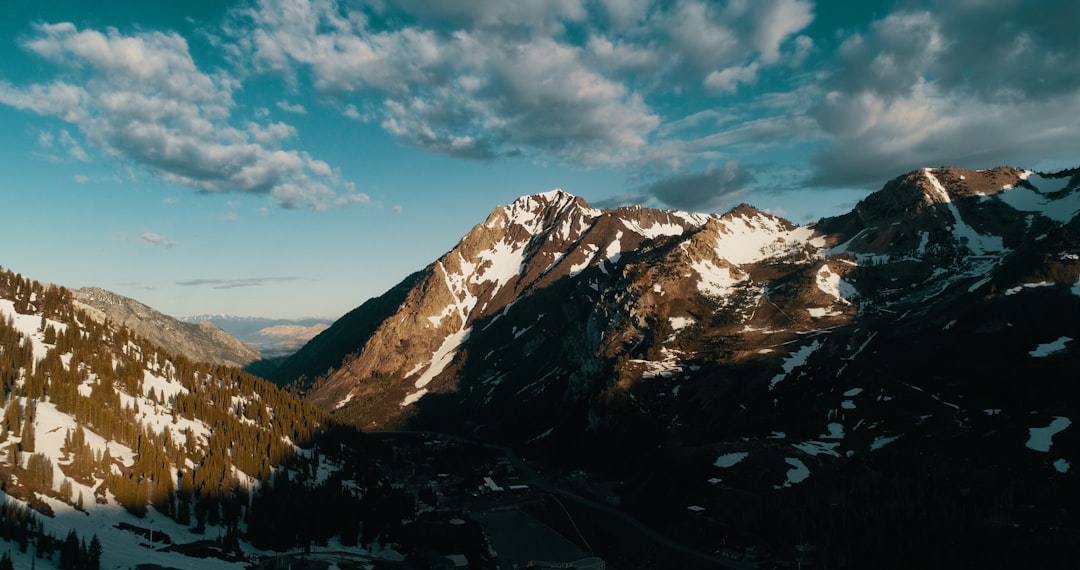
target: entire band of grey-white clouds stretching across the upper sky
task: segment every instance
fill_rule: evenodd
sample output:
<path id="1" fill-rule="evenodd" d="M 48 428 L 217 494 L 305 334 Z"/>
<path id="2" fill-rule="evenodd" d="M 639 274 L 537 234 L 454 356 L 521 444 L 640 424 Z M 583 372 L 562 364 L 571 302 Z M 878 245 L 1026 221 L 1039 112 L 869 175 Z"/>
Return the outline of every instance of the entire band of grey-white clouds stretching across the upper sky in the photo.
<path id="1" fill-rule="evenodd" d="M 810 0 L 247 0 L 203 30 L 213 71 L 172 31 L 40 24 L 22 45 L 55 76 L 0 81 L 0 104 L 67 123 L 39 137 L 49 160 L 103 154 L 286 208 L 368 199 L 271 107 L 297 121 L 330 110 L 459 159 L 625 168 L 651 180 L 625 199 L 685 208 L 769 190 L 772 177 L 746 174 L 767 164 L 796 164 L 804 186 L 865 188 L 919 166 L 1075 154 L 1080 4 L 915 0 L 846 29 L 815 12 Z M 286 95 L 248 111 L 237 95 L 251 84 Z"/>

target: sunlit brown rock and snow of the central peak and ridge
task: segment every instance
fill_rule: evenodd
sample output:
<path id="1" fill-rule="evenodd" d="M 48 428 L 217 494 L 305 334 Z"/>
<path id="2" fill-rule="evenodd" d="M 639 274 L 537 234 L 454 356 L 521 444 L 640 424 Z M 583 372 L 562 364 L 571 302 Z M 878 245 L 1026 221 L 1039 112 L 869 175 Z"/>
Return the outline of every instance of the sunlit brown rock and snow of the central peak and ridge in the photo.
<path id="1" fill-rule="evenodd" d="M 639 207 L 598 211 L 558 190 L 525 196 L 492 212 L 427 268 L 397 311 L 320 383 L 312 397 L 330 408 L 355 399 L 376 404 L 365 407 L 381 408 L 382 419 L 391 421 L 429 392 L 453 390 L 456 365 L 464 364 L 462 348 L 521 338 L 528 329 L 534 329 L 530 337 L 540 337 L 545 328 L 541 320 L 563 327 L 564 318 L 576 320 L 575 313 L 589 318 L 585 329 L 578 331 L 586 338 L 557 350 L 588 353 L 584 369 L 599 374 L 606 365 L 597 357 L 616 357 L 627 344 L 640 344 L 658 318 L 664 323 L 690 318 L 689 307 L 669 314 L 671 308 L 652 297 L 670 291 L 669 299 L 713 303 L 702 300 L 724 296 L 745 281 L 741 264 L 806 255 L 812 233 L 748 206 L 710 216 Z M 624 255 L 648 257 L 631 263 Z M 638 279 L 637 272 L 656 264 L 657 255 L 669 258 L 661 266 L 671 267 L 652 275 L 654 282 Z M 619 282 L 623 285 L 615 286 Z M 552 298 L 553 291 L 588 304 L 571 309 Z M 633 299 L 622 300 L 624 294 Z M 527 299 L 545 299 L 543 304 L 569 313 L 546 318 L 537 313 L 530 316 L 534 323 L 522 323 L 521 315 L 537 311 L 515 309 Z M 604 316 L 597 320 L 597 315 Z M 504 316 L 505 323 L 513 323 L 510 330 L 499 323 Z M 550 339 L 536 342 L 548 344 Z M 492 378 L 499 375 L 489 371 Z M 391 378 L 405 379 L 411 388 L 402 392 L 406 384 L 400 383 L 388 389 L 386 380 Z M 585 385 L 593 381 L 580 380 Z M 588 392 L 577 382 L 567 390 Z M 380 406 L 389 403 L 388 397 L 396 398 L 394 406 Z"/>

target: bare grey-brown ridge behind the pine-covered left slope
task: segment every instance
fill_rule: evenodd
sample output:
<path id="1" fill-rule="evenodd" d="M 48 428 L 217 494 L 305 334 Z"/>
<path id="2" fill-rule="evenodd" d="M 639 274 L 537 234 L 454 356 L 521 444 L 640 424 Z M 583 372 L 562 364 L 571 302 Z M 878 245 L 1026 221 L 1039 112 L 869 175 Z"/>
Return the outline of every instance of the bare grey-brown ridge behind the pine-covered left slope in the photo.
<path id="1" fill-rule="evenodd" d="M 195 362 L 244 366 L 261 357 L 259 351 L 207 321 L 183 323 L 134 299 L 97 287 L 75 289 L 72 298 L 97 321 L 108 318 Z"/>

